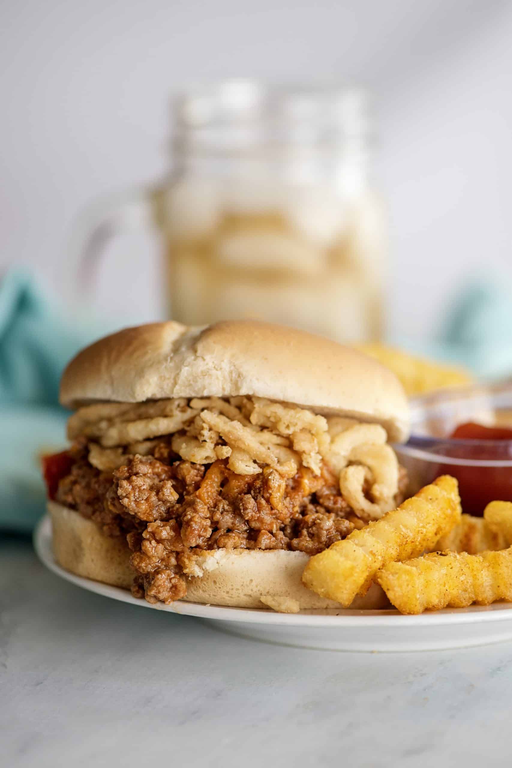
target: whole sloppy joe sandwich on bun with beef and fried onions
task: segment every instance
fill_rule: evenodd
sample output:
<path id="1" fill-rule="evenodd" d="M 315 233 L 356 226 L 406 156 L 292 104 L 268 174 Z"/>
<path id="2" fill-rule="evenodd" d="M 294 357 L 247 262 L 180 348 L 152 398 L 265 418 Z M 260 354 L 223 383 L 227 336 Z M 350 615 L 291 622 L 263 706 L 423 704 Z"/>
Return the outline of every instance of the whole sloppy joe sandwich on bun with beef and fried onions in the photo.
<path id="1" fill-rule="evenodd" d="M 150 603 L 339 607 L 301 583 L 309 558 L 405 495 L 398 379 L 296 329 L 124 329 L 70 362 L 61 403 L 71 447 L 45 458 L 55 558 Z"/>

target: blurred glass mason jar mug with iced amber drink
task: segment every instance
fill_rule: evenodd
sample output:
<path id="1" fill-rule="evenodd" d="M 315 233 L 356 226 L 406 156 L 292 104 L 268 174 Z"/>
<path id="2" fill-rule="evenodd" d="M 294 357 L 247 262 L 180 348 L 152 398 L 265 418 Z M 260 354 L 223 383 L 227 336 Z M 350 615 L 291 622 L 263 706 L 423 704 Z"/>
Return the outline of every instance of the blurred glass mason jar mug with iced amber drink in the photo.
<path id="1" fill-rule="evenodd" d="M 361 91 L 252 81 L 174 101 L 172 170 L 141 196 L 164 236 L 170 317 L 380 339 L 387 239 L 365 112 Z M 134 201 L 114 206 L 82 259 L 137 215 Z"/>

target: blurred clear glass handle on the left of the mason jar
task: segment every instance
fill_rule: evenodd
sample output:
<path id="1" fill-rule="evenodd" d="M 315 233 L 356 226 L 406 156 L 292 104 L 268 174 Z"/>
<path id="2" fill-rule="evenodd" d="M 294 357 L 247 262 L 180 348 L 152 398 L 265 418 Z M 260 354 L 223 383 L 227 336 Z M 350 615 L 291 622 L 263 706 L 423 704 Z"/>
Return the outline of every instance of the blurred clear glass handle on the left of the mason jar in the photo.
<path id="1" fill-rule="evenodd" d="M 68 288 L 88 296 L 94 287 L 108 243 L 123 231 L 154 230 L 154 190 L 135 187 L 88 204 L 71 233 L 68 246 Z"/>

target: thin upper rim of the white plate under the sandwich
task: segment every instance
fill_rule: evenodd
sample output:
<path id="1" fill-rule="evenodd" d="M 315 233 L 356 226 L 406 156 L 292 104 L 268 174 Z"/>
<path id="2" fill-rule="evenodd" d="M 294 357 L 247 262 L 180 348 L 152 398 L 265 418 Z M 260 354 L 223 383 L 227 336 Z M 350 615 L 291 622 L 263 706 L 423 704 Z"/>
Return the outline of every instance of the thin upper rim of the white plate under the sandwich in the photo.
<path id="1" fill-rule="evenodd" d="M 379 627 L 436 627 L 460 624 L 481 624 L 488 622 L 512 621 L 512 603 L 504 601 L 491 605 L 473 605 L 467 608 L 444 608 L 441 611 L 425 612 L 418 615 L 401 614 L 394 609 L 382 611 L 355 611 L 340 608 L 336 614 L 300 612 L 298 614 L 279 614 L 264 608 L 236 608 L 219 605 L 205 605 L 176 601 L 170 605 L 150 604 L 134 598 L 129 591 L 104 584 L 101 581 L 84 578 L 61 568 L 55 561 L 51 549 L 51 518 L 43 515 L 34 529 L 32 541 L 39 560 L 48 570 L 70 581 L 86 591 L 101 594 L 103 597 L 121 601 L 138 607 L 153 608 L 171 614 L 192 616 L 216 621 L 237 621 L 250 624 L 286 625 L 296 627 L 339 627 L 378 629 Z"/>

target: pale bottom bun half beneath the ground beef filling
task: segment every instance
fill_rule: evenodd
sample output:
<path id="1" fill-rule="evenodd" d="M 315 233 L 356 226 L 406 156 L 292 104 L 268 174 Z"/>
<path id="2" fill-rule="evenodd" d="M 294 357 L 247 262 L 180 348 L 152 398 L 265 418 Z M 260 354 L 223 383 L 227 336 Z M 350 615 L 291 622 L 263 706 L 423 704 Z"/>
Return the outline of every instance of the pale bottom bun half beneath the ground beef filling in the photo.
<path id="1" fill-rule="evenodd" d="M 48 502 L 48 511 L 53 552 L 62 568 L 114 587 L 130 588 L 134 571 L 124 538 L 105 536 L 96 523 L 56 502 Z M 282 549 L 201 552 L 197 557 L 197 575 L 187 578 L 187 595 L 183 600 L 239 608 L 266 608 L 267 601 L 273 606 L 296 601 L 300 610 L 339 610 L 339 603 L 320 598 L 302 585 L 302 571 L 308 560 L 309 555 L 304 552 Z M 351 605 L 358 610 L 383 607 L 389 607 L 389 603 L 376 584 Z"/>

